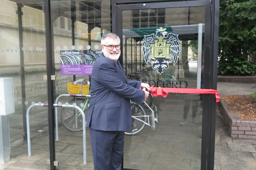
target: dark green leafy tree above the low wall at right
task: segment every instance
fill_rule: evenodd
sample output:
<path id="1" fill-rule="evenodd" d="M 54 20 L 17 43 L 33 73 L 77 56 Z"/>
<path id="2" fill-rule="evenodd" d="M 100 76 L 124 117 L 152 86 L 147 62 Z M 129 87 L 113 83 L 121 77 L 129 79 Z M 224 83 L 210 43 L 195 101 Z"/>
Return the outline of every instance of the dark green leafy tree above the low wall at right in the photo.
<path id="1" fill-rule="evenodd" d="M 220 7 L 219 75 L 256 75 L 256 1 L 220 0 Z"/>

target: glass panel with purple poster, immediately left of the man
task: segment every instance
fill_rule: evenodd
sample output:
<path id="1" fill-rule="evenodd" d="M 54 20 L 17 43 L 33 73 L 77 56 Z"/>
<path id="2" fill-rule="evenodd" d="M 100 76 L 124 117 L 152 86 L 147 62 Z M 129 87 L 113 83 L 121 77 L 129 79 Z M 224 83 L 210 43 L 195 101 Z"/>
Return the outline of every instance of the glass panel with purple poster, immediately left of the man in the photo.
<path id="1" fill-rule="evenodd" d="M 110 1 L 52 1 L 52 22 L 64 18 L 65 29 L 54 27 L 55 99 L 61 94 L 89 94 L 89 66 L 100 55 L 101 36 L 111 30 Z M 69 21 L 70 20 L 70 21 Z M 71 27 L 68 29 L 68 25 Z M 73 84 L 84 79 L 83 87 Z M 79 86 L 76 88 L 76 86 Z M 77 105 L 87 116 L 90 98 L 62 96 L 59 104 Z M 83 164 L 82 115 L 73 108 L 58 108 L 56 160 L 63 166 L 93 169 L 90 133 L 86 131 L 87 164 Z M 57 135 L 57 134 L 56 134 Z"/>

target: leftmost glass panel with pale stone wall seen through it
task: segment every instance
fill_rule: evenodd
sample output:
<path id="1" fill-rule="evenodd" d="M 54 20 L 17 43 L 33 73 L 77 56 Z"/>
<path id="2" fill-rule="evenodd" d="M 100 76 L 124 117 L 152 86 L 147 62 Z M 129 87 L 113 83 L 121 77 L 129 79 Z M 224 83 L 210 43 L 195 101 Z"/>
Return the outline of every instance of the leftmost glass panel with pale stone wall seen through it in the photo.
<path id="1" fill-rule="evenodd" d="M 49 157 L 48 109 L 42 105 L 48 103 L 44 80 L 47 75 L 44 1 L 1 0 L 0 4 L 0 77 L 13 80 L 14 94 L 5 90 L 5 95 L 14 95 L 14 103 L 10 105 L 15 108 L 14 113 L 2 116 L 9 118 L 11 148 L 6 143 L 5 149 L 10 149 L 12 161 L 18 160 L 12 163 L 14 169 L 49 168 L 45 163 Z M 28 157 L 26 136 L 29 107 L 32 157 Z M 3 137 L 5 141 L 9 138 Z"/>

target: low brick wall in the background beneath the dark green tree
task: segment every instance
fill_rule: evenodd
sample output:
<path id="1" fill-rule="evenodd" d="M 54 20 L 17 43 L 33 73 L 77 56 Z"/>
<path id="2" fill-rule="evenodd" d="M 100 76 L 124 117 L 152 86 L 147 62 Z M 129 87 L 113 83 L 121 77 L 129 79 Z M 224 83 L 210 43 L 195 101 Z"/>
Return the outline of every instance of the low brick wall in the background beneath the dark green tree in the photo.
<path id="1" fill-rule="evenodd" d="M 255 76 L 218 76 L 218 82 L 256 83 Z"/>

